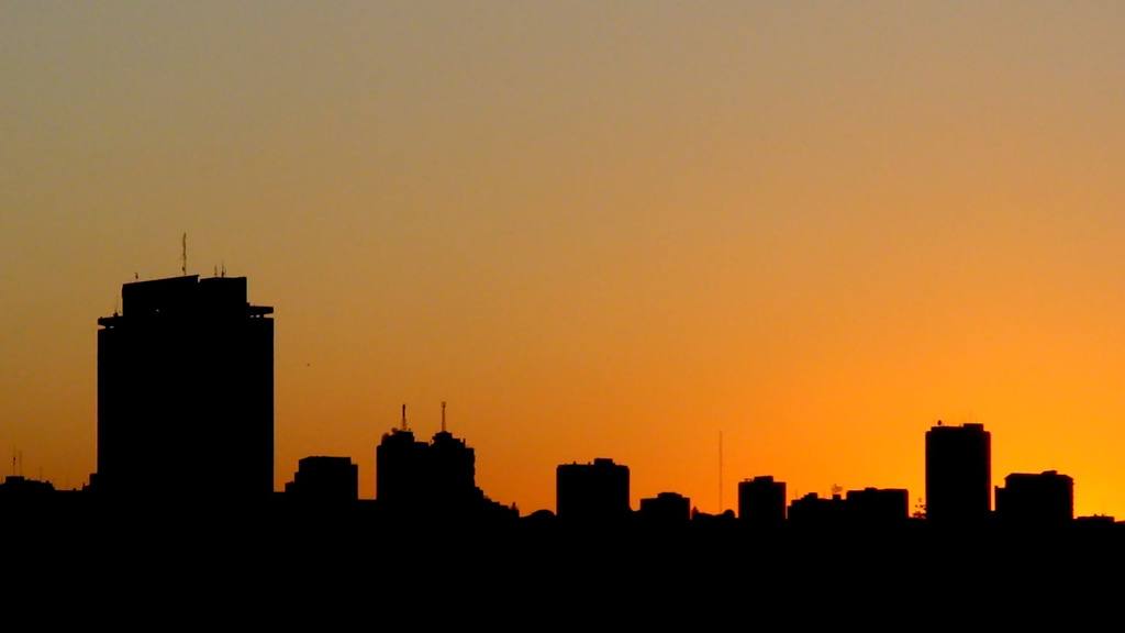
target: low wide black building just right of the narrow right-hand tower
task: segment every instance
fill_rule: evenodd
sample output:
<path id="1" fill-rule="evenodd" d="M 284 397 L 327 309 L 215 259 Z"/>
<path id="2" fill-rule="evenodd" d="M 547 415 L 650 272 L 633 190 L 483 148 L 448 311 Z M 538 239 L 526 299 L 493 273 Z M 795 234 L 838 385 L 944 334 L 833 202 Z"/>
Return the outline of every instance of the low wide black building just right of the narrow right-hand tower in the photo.
<path id="1" fill-rule="evenodd" d="M 996 488 L 996 514 L 1006 525 L 1060 527 L 1074 518 L 1074 480 L 1055 471 L 1012 473 Z"/>

